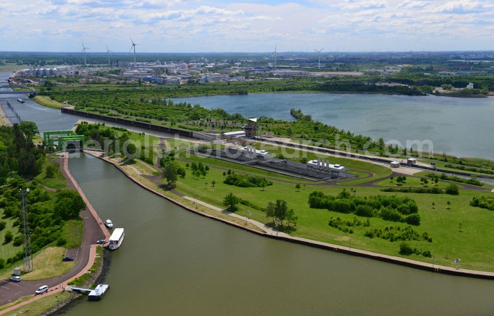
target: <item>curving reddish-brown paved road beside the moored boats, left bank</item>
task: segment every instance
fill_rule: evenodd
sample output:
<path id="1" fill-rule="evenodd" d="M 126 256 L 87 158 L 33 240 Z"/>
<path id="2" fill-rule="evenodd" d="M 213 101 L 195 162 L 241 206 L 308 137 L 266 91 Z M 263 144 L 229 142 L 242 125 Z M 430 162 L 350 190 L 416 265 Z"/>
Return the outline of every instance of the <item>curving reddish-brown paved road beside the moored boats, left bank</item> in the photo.
<path id="1" fill-rule="evenodd" d="M 63 164 L 63 160 L 61 158 L 57 158 L 54 160 L 58 162 L 60 166 Z M 64 168 L 62 169 L 62 173 L 64 176 L 69 179 Z M 69 180 L 69 189 L 76 190 L 74 184 Z M 38 281 L 20 281 L 20 282 L 7 282 L 0 287 L 0 305 L 6 304 L 10 301 L 15 301 L 22 296 L 33 295 L 34 292 L 41 285 L 48 285 L 49 288 L 60 285 L 62 286 L 62 282 L 65 282 L 64 286 L 67 285 L 66 281 L 75 277 L 82 269 L 86 266 L 89 261 L 89 251 L 90 245 L 95 244 L 99 239 L 105 239 L 106 236 L 101 230 L 100 224 L 94 218 L 94 216 L 90 213 L 88 209 L 85 209 L 81 212 L 82 221 L 84 223 L 84 230 L 82 232 L 82 246 L 79 248 L 78 260 L 74 268 L 72 268 L 69 272 L 64 275 L 54 277 L 46 280 L 38 280 Z M 60 258 L 62 260 L 62 258 Z M 36 269 L 36 266 L 34 267 Z"/>

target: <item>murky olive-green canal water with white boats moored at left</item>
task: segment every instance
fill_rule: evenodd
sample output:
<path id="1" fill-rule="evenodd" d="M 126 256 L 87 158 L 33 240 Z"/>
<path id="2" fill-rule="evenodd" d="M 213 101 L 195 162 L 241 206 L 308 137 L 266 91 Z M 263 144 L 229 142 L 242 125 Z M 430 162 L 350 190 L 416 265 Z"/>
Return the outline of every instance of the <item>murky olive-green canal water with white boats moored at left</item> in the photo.
<path id="1" fill-rule="evenodd" d="M 37 123 L 59 113 L 35 111 L 26 114 L 35 113 Z M 262 238 L 185 211 L 89 156 L 72 158 L 69 169 L 100 216 L 125 228 L 125 240 L 107 252 L 109 267 L 100 280 L 111 286 L 105 297 L 83 298 L 58 315 L 487 316 L 494 311 L 493 281 Z"/>

